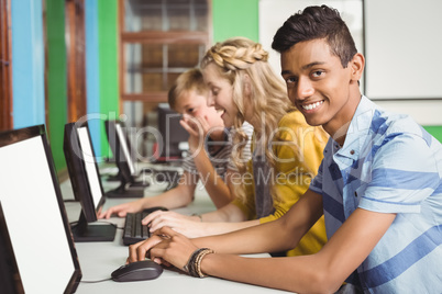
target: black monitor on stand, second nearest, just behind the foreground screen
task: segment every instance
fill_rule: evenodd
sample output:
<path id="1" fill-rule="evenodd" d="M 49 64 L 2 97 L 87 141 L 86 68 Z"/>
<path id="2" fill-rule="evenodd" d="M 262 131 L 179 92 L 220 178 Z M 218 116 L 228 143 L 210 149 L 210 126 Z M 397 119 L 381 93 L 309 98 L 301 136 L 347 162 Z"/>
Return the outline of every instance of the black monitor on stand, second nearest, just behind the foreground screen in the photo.
<path id="1" fill-rule="evenodd" d="M 87 123 L 65 125 L 63 150 L 75 199 L 81 205 L 78 223 L 71 226 L 74 240 L 112 241 L 115 237 L 112 224 L 89 224 L 97 222 L 97 212 L 106 197 Z"/>

